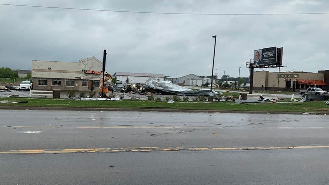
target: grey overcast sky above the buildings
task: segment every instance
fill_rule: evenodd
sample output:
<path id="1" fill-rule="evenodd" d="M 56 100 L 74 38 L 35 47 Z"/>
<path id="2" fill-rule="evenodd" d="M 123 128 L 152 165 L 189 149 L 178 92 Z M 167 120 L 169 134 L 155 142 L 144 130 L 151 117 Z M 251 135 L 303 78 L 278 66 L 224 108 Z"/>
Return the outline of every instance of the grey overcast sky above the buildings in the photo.
<path id="1" fill-rule="evenodd" d="M 329 0 L 0 0 L 0 67 L 31 60 L 78 62 L 106 49 L 106 70 L 248 77 L 253 51 L 283 47 L 283 71 L 329 70 Z M 260 69 L 255 69 L 259 71 Z M 278 72 L 278 68 L 269 69 Z"/>

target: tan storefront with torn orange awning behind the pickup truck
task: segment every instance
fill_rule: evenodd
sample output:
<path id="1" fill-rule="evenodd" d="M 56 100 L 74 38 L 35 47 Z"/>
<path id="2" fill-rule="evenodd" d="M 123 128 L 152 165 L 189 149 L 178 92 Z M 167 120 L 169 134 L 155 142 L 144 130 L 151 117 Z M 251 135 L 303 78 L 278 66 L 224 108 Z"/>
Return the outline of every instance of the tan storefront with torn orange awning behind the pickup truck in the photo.
<path id="1" fill-rule="evenodd" d="M 308 87 L 320 87 L 327 90 L 328 79 L 325 78 L 329 70 L 318 73 L 294 71 L 294 72 L 254 72 L 253 89 L 270 91 L 299 91 Z"/>

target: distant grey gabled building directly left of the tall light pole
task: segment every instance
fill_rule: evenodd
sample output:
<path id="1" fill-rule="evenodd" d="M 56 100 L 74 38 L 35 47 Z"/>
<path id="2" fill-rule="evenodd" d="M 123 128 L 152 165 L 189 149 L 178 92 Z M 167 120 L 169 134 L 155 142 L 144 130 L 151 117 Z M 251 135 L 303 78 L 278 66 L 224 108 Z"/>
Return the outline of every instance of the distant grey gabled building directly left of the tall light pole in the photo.
<path id="1" fill-rule="evenodd" d="M 165 80 L 171 81 L 173 84 L 180 86 L 201 86 L 203 84 L 203 78 L 195 74 L 189 74 L 185 76 L 174 75 L 165 78 Z"/>

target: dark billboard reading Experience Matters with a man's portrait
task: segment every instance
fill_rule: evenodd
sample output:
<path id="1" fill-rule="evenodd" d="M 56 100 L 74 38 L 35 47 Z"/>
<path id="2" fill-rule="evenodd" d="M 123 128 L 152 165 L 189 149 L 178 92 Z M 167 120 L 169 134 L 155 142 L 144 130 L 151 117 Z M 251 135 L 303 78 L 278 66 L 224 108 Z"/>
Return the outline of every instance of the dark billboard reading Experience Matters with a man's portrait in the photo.
<path id="1" fill-rule="evenodd" d="M 282 64 L 283 48 L 270 47 L 254 50 L 254 66 L 271 66 Z"/>

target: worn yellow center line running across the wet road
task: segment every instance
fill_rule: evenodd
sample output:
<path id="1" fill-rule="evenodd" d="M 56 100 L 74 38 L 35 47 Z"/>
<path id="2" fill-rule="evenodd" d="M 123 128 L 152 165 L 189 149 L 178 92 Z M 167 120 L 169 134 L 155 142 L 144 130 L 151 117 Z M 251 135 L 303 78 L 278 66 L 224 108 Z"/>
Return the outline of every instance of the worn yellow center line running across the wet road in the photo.
<path id="1" fill-rule="evenodd" d="M 47 153 L 94 153 L 94 152 L 153 152 L 153 151 L 206 151 L 206 150 L 275 150 L 275 149 L 314 149 L 329 148 L 329 146 L 288 146 L 288 147 L 128 147 L 128 148 L 86 148 L 86 149 L 63 149 L 63 150 L 9 150 L 1 151 L 0 154 L 47 154 Z"/>

